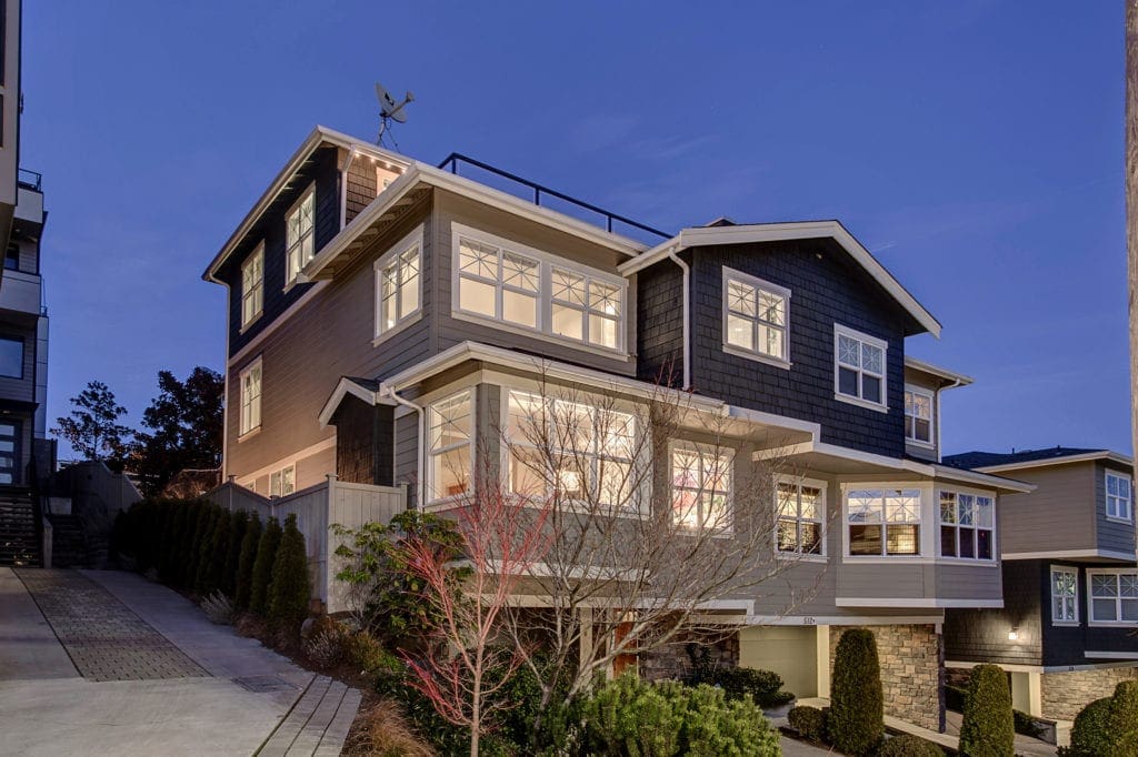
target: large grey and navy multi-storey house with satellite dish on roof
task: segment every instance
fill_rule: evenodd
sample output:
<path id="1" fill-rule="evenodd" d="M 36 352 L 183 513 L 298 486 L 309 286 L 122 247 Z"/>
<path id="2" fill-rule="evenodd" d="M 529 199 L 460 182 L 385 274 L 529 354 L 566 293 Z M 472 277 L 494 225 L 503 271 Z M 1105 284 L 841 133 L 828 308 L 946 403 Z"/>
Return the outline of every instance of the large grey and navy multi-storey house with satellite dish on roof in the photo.
<path id="1" fill-rule="evenodd" d="M 1000 606 L 996 510 L 1030 486 L 940 463 L 941 392 L 970 380 L 906 356 L 941 326 L 840 223 L 659 233 L 318 127 L 204 277 L 229 292 L 230 481 L 280 501 L 329 476 L 403 485 L 404 507 L 445 510 L 487 471 L 533 485 L 498 430 L 539 388 L 630 418 L 662 382 L 694 422 L 651 460 L 658 480 L 677 504 L 714 483 L 674 517 L 729 510 L 765 460 L 795 472 L 759 506 L 778 508 L 770 559 L 797 563 L 715 608 L 739 630 L 727 654 L 825 697 L 841 631 L 872 627 L 889 712 L 942 726 L 945 612 Z M 718 451 L 700 416 L 724 422 Z M 607 439 L 555 480 L 602 485 L 628 464 Z"/>

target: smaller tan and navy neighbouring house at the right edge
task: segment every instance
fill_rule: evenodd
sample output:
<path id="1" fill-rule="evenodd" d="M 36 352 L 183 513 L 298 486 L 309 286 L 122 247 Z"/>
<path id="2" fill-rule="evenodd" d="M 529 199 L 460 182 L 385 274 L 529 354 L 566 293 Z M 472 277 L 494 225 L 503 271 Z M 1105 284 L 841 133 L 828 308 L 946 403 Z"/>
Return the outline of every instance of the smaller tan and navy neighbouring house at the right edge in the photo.
<path id="1" fill-rule="evenodd" d="M 996 663 L 1019 709 L 1056 719 L 1138 677 L 1133 460 L 1055 447 L 946 461 L 1036 485 L 1000 504 L 1004 607 L 949 610 L 946 665 Z"/>

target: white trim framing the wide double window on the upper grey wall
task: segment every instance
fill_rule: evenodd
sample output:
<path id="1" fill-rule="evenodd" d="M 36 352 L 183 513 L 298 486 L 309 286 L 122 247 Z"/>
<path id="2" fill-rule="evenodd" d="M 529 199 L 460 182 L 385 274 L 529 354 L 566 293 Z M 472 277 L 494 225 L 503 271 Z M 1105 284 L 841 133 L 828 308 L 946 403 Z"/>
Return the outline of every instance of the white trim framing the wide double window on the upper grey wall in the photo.
<path id="1" fill-rule="evenodd" d="M 517 252 L 527 258 L 531 258 L 538 263 L 538 278 L 539 285 L 537 291 L 537 325 L 534 328 L 525 326 L 522 324 L 510 323 L 508 321 L 498 321 L 497 318 L 492 318 L 485 316 L 480 313 L 472 313 L 470 310 L 463 310 L 460 306 L 459 298 L 459 284 L 460 284 L 460 238 L 469 239 L 472 242 L 481 242 L 485 244 L 492 244 L 494 247 L 508 250 L 510 252 Z M 616 286 L 620 292 L 620 318 L 617 322 L 617 347 L 609 348 L 601 344 L 594 344 L 583 340 L 569 339 L 567 336 L 560 336 L 551 331 L 552 327 L 552 308 L 553 308 L 553 292 L 552 292 L 552 269 L 562 268 L 569 273 L 574 273 L 580 276 L 586 276 L 593 278 L 597 282 Z M 632 318 L 628 313 L 628 280 L 624 278 L 617 274 L 610 274 L 608 272 L 601 271 L 599 268 L 593 268 L 591 266 L 576 263 L 568 258 L 562 258 L 542 250 L 534 249 L 529 246 L 516 242 L 513 240 L 505 239 L 503 236 L 497 236 L 464 224 L 452 223 L 451 224 L 451 317 L 459 321 L 469 321 L 471 323 L 489 325 L 500 331 L 506 331 L 516 334 L 522 334 L 525 336 L 530 336 L 533 339 L 541 339 L 547 342 L 553 342 L 555 344 L 562 344 L 566 347 L 571 347 L 576 350 L 582 350 L 585 352 L 593 352 L 595 355 L 602 355 L 604 357 L 613 358 L 627 358 L 628 357 L 628 324 L 632 323 Z M 635 340 L 633 340 L 635 341 Z"/>

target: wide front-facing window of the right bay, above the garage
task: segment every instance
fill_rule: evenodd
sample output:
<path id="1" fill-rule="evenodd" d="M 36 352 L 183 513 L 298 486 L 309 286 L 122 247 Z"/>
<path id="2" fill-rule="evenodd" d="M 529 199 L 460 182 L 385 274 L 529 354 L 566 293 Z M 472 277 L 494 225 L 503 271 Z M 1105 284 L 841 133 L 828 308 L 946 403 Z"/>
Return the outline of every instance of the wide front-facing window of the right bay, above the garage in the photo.
<path id="1" fill-rule="evenodd" d="M 846 494 L 850 555 L 920 555 L 920 489 L 853 489 Z"/>

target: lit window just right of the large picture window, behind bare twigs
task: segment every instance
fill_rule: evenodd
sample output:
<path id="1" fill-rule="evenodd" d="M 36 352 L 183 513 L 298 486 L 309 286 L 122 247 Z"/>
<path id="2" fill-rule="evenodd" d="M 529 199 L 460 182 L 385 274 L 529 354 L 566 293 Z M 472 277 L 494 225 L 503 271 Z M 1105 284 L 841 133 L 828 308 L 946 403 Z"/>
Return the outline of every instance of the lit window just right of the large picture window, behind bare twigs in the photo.
<path id="1" fill-rule="evenodd" d="M 671 450 L 671 514 L 690 529 L 732 527 L 729 450 L 677 444 Z"/>

